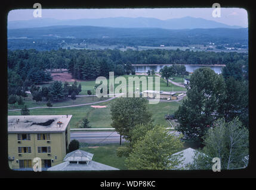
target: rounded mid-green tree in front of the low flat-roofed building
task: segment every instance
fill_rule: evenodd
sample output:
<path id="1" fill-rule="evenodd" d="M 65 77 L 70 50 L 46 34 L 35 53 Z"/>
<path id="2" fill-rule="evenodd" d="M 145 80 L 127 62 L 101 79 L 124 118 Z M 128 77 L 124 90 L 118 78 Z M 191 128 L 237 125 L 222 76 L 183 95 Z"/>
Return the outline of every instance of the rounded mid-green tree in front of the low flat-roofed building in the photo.
<path id="1" fill-rule="evenodd" d="M 152 121 L 147 103 L 148 100 L 141 97 L 116 99 L 110 107 L 111 126 L 126 140 L 131 141 L 130 131 L 135 125 L 149 124 Z"/>

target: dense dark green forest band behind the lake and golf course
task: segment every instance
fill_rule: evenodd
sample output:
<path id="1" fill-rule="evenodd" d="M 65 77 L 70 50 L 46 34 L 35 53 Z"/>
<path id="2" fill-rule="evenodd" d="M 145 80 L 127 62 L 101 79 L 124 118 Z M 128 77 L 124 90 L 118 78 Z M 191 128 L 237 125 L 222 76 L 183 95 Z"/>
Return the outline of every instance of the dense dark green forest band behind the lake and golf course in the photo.
<path id="1" fill-rule="evenodd" d="M 78 80 L 98 76 L 134 74 L 132 64 L 224 64 L 243 68 L 248 75 L 247 53 L 193 52 L 190 50 L 8 50 L 8 89 L 51 81 L 47 69 L 68 69 Z M 246 72 L 247 71 L 247 72 Z M 230 71 L 225 71 L 229 75 Z"/>

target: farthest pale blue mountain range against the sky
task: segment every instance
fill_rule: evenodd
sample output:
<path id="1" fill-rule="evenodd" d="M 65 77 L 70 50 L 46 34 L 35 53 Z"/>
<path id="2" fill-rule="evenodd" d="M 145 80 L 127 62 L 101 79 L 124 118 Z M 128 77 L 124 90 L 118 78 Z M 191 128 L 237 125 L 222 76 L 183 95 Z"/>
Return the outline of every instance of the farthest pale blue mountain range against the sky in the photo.
<path id="1" fill-rule="evenodd" d="M 161 28 L 161 29 L 239 29 L 240 26 L 229 26 L 203 18 L 183 17 L 168 20 L 146 17 L 84 18 L 78 20 L 56 20 L 35 18 L 27 21 L 8 21 L 8 29 L 21 29 L 47 26 L 97 26 L 116 28 Z"/>

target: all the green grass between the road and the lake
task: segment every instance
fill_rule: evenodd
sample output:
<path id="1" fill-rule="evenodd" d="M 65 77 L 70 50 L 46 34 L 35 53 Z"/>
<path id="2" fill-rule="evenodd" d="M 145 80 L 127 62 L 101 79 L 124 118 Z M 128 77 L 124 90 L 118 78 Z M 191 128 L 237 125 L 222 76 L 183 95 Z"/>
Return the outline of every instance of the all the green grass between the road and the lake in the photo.
<path id="1" fill-rule="evenodd" d="M 138 75 L 136 75 L 138 76 Z M 128 77 L 135 77 L 135 75 L 125 75 L 124 76 L 127 81 Z M 141 77 L 141 76 L 138 76 Z M 148 78 L 145 76 L 146 79 Z M 91 90 L 94 88 L 95 81 L 79 81 L 78 84 L 81 83 L 82 85 L 82 91 L 79 95 L 87 95 L 87 90 Z M 47 84 L 45 84 L 47 85 Z M 119 84 L 115 84 L 115 87 Z M 128 85 L 124 84 L 124 85 Z M 169 84 L 170 86 L 167 87 L 165 81 L 161 78 L 160 81 L 160 88 L 163 91 L 171 91 L 172 90 L 172 84 Z M 153 89 L 155 88 L 155 77 L 153 78 Z M 134 87 L 135 89 L 135 87 Z M 186 91 L 186 88 L 177 87 L 174 85 L 173 87 L 174 91 Z M 134 90 L 135 91 L 135 90 Z M 141 85 L 140 85 L 140 91 Z M 91 102 L 98 102 L 100 100 L 105 100 L 107 98 L 97 98 L 97 97 L 77 97 L 76 100 L 63 100 L 60 102 L 53 102 L 53 106 L 69 106 L 69 105 L 79 105 L 84 103 L 91 103 Z M 182 100 L 181 100 L 182 101 Z M 180 105 L 180 102 L 159 102 L 156 105 L 150 105 L 149 104 L 149 110 L 152 112 L 152 118 L 154 124 L 162 124 L 166 127 L 169 127 L 170 125 L 168 122 L 165 121 L 165 114 L 172 114 L 175 112 L 175 110 L 178 109 L 178 106 Z M 39 107 L 44 106 L 46 107 L 47 102 L 38 102 L 36 103 L 34 100 L 32 100 L 32 95 L 29 94 L 29 96 L 24 101 L 27 107 Z M 63 108 L 41 108 L 41 109 L 32 109 L 30 110 L 30 115 L 66 115 L 66 114 L 72 114 L 72 119 L 70 121 L 70 128 L 78 128 L 76 125 L 82 118 L 86 117 L 88 121 L 90 122 L 90 125 L 92 128 L 111 128 L 111 115 L 110 115 L 110 104 L 113 102 L 104 102 L 104 103 L 98 103 L 97 105 L 100 106 L 107 106 L 105 108 L 101 109 L 95 109 L 91 107 L 91 105 L 86 106 L 76 106 L 76 107 L 63 107 Z M 21 109 L 21 105 L 8 105 L 8 109 Z M 9 111 L 8 115 L 20 115 L 20 111 Z"/>

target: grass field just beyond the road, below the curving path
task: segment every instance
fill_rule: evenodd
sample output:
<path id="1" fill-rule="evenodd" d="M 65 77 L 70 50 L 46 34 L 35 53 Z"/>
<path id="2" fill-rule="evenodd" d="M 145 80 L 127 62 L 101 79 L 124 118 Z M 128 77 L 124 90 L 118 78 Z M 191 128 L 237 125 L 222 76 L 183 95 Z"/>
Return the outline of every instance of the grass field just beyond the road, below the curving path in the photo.
<path id="1" fill-rule="evenodd" d="M 72 114 L 70 128 L 78 128 L 76 123 L 82 118 L 87 117 L 92 128 L 111 128 L 110 102 L 99 103 L 99 106 L 107 106 L 105 108 L 95 109 L 90 105 L 78 107 L 63 107 L 63 108 L 41 108 L 30 110 L 30 115 L 66 115 Z M 183 100 L 181 100 L 183 101 Z M 165 114 L 172 114 L 178 109 L 180 102 L 159 102 L 155 105 L 149 104 L 149 110 L 152 112 L 154 124 L 162 124 L 166 127 L 170 125 L 165 121 Z M 20 115 L 20 111 L 9 111 L 8 115 Z"/>

